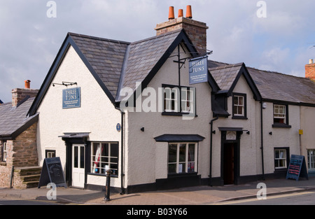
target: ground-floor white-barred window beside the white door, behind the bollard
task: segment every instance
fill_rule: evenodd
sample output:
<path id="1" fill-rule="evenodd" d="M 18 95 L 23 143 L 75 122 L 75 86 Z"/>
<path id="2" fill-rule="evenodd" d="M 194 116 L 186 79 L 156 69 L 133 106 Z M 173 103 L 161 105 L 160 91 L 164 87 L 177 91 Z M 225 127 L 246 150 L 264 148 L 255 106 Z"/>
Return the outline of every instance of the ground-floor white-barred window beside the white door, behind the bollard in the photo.
<path id="1" fill-rule="evenodd" d="M 118 175 L 118 143 L 91 143 L 91 173 L 106 174 L 111 170 L 112 175 Z"/>

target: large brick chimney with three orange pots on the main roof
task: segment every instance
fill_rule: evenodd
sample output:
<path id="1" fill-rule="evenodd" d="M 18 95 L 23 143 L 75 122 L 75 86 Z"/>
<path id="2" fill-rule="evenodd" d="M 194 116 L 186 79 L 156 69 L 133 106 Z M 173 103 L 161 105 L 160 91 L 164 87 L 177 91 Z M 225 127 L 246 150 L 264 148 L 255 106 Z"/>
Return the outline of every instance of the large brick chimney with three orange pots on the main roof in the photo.
<path id="1" fill-rule="evenodd" d="M 166 34 L 169 31 L 185 29 L 190 41 L 197 49 L 199 55 L 207 54 L 207 24 L 193 20 L 191 6 L 186 8 L 186 17 L 182 17 L 182 10 L 179 10 L 179 17 L 174 18 L 174 7 L 169 7 L 169 20 L 157 24 L 155 27 L 156 35 Z"/>

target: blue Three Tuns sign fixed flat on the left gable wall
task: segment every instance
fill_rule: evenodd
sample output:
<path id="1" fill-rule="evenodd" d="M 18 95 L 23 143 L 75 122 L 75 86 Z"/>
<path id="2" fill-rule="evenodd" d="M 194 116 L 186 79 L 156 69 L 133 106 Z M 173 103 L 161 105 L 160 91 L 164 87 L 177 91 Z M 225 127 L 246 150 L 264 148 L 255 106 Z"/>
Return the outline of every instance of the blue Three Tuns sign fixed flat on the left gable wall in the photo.
<path id="1" fill-rule="evenodd" d="M 78 108 L 80 106 L 81 106 L 80 87 L 62 90 L 62 108 Z"/>

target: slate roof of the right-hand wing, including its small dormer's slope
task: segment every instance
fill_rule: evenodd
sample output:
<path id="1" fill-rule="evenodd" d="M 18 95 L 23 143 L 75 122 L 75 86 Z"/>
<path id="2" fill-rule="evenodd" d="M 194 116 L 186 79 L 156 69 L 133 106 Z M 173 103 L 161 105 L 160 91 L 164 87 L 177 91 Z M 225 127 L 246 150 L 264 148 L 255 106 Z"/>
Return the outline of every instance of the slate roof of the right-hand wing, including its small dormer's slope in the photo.
<path id="1" fill-rule="evenodd" d="M 209 71 L 221 88 L 229 90 L 242 63 L 228 64 L 209 60 Z M 295 104 L 315 104 L 315 83 L 308 78 L 247 67 L 262 99 Z"/>

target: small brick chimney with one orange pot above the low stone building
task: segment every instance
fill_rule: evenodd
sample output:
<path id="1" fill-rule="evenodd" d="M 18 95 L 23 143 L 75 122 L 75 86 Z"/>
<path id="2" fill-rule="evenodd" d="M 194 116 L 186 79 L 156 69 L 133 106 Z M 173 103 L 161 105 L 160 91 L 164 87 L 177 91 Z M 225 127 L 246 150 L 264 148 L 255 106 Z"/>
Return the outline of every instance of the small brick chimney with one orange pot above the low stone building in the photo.
<path id="1" fill-rule="evenodd" d="M 12 90 L 12 106 L 16 107 L 25 98 L 36 97 L 38 90 L 31 89 L 31 80 L 25 80 L 25 88 L 15 88 Z"/>

